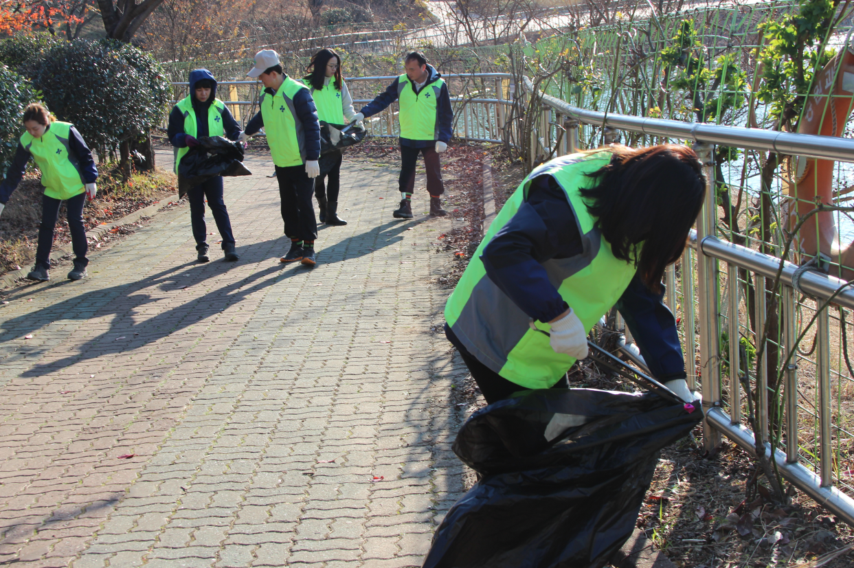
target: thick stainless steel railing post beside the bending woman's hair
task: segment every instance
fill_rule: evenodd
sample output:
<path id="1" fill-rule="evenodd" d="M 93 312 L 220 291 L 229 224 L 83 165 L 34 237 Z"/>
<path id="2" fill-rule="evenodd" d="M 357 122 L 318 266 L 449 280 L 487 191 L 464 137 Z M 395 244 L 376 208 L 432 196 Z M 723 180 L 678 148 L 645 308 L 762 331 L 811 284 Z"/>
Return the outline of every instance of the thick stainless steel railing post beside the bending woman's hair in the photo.
<path id="1" fill-rule="evenodd" d="M 717 232 L 717 203 L 715 199 L 714 145 L 695 143 L 699 161 L 705 173 L 705 202 L 697 219 L 697 242 L 705 237 L 714 237 Z M 699 276 L 699 351 L 702 376 L 703 408 L 708 413 L 712 407 L 720 406 L 720 343 L 718 331 L 718 274 L 717 260 L 703 253 L 698 247 L 697 268 Z M 703 444 L 707 451 L 721 444 L 721 433 L 708 420 L 703 423 Z"/>

